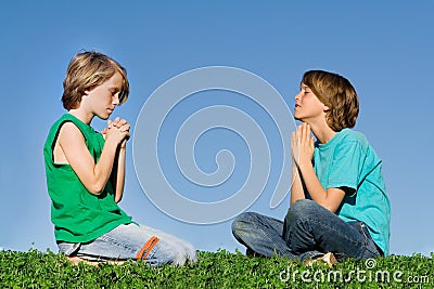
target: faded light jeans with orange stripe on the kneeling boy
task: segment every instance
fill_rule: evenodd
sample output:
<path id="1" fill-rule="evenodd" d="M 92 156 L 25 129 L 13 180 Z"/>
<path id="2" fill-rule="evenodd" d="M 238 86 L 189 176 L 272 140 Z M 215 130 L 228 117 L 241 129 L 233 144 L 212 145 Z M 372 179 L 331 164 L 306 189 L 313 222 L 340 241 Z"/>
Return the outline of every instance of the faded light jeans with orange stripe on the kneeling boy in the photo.
<path id="1" fill-rule="evenodd" d="M 190 242 L 135 223 L 119 225 L 90 242 L 61 241 L 58 247 L 66 255 L 90 261 L 142 259 L 150 265 L 182 265 L 186 261 L 197 261 Z"/>

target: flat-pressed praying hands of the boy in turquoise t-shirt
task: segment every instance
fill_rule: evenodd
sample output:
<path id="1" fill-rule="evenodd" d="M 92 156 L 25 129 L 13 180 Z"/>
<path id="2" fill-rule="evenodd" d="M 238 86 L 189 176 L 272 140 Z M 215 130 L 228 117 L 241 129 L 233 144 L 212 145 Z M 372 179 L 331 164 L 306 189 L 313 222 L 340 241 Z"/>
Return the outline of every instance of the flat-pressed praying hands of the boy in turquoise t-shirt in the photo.
<path id="1" fill-rule="evenodd" d="M 310 132 L 310 126 L 303 122 L 297 127 L 296 133 L 291 133 L 291 154 L 297 167 L 308 162 L 311 163 L 315 152 L 315 141 Z"/>

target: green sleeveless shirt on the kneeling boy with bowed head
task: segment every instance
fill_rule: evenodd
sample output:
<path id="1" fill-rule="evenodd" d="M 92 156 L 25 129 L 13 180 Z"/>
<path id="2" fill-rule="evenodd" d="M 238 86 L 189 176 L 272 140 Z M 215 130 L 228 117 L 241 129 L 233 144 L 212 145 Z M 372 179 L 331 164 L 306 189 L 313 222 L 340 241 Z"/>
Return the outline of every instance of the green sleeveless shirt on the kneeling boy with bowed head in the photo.
<path id="1" fill-rule="evenodd" d="M 65 114 L 51 127 L 43 146 L 47 186 L 52 200 L 51 221 L 54 224 L 55 239 L 67 242 L 87 242 L 120 224 L 131 223 L 131 218 L 115 202 L 111 181 L 107 182 L 104 191 L 95 196 L 86 189 L 69 165 L 54 162 L 53 149 L 60 128 L 68 121 L 81 131 L 86 146 L 95 163 L 101 156 L 104 139 L 90 126 L 73 115 Z"/>

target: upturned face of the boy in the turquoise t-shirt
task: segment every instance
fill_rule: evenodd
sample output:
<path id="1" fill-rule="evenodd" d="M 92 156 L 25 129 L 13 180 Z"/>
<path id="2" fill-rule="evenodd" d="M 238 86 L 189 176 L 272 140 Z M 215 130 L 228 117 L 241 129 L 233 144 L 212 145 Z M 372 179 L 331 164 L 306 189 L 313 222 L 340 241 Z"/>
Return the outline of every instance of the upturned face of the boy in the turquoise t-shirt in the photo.
<path id="1" fill-rule="evenodd" d="M 318 100 L 310 88 L 302 83 L 299 92 L 295 95 L 295 119 L 307 123 L 326 119 L 327 109 L 328 107 Z"/>

